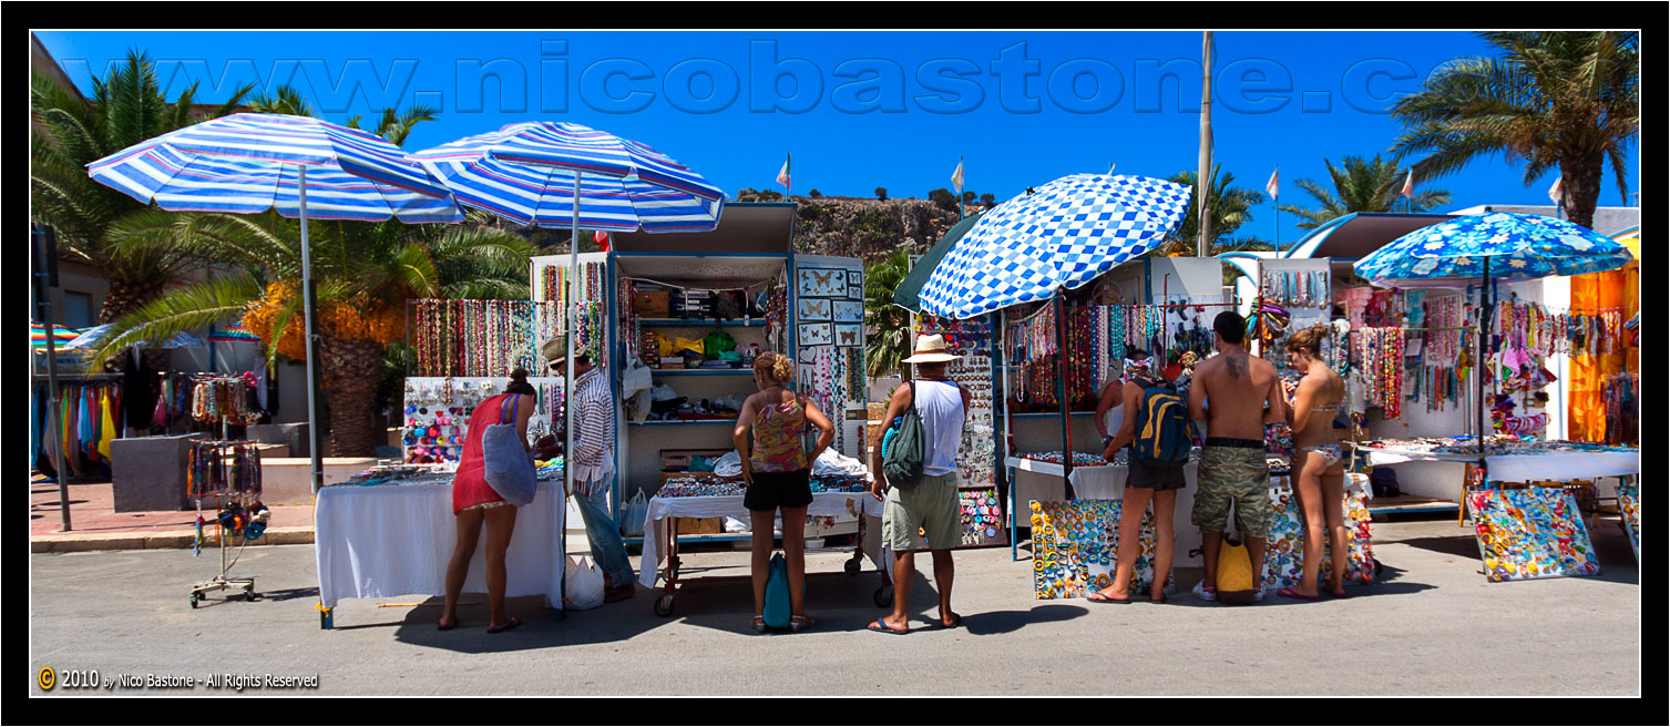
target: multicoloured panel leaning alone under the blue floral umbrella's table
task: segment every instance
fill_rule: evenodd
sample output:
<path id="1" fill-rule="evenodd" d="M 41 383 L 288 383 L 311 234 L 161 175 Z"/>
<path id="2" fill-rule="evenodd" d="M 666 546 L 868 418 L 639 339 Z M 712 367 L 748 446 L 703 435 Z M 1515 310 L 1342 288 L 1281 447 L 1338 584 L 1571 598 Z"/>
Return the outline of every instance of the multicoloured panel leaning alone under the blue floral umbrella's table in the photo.
<path id="1" fill-rule="evenodd" d="M 1471 490 L 1468 510 L 1491 583 L 1600 575 L 1588 528 L 1566 490 Z"/>

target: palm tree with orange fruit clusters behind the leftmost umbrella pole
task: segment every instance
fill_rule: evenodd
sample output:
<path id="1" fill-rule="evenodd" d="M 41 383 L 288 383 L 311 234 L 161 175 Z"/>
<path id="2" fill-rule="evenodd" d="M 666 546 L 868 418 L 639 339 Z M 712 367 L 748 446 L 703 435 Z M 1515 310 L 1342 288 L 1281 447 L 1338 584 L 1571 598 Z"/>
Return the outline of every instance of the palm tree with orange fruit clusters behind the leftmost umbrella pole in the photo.
<path id="1" fill-rule="evenodd" d="M 384 351 L 406 336 L 406 301 L 414 297 L 528 299 L 533 246 L 471 214 L 459 226 L 321 222 L 309 227 L 317 301 L 319 363 L 331 408 L 336 456 L 376 448 L 372 401 Z M 301 319 L 301 227 L 276 212 L 154 214 L 124 227 L 124 244 L 169 241 L 229 264 L 234 271 L 172 289 L 124 316 L 94 356 L 137 341 L 155 341 L 225 318 L 277 354 L 304 359 Z"/>

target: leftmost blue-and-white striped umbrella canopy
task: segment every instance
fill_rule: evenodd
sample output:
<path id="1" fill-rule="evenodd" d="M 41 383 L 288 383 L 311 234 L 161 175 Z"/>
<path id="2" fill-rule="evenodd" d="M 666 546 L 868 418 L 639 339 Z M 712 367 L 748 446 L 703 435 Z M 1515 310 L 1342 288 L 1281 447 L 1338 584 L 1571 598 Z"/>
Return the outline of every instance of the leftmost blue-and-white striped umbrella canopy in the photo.
<path id="1" fill-rule="evenodd" d="M 312 117 L 232 114 L 149 139 L 87 165 L 95 180 L 174 212 L 458 222 L 451 191 L 387 140 Z"/>

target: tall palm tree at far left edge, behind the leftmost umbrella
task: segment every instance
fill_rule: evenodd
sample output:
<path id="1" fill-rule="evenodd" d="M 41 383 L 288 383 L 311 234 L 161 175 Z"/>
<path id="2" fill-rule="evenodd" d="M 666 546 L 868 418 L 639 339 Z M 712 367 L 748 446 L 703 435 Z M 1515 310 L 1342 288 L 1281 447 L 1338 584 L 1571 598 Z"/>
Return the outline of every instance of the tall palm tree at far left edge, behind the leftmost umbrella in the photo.
<path id="1" fill-rule="evenodd" d="M 207 115 L 194 115 L 197 84 L 169 104 L 150 57 L 130 50 L 127 62 L 94 80 L 84 100 L 48 75 L 32 74 L 30 110 L 40 122 L 30 132 L 30 221 L 52 226 L 58 252 L 85 262 L 110 284 L 97 323 L 110 323 L 154 301 L 170 281 L 200 264 L 170 246 L 120 246 L 110 231 L 130 216 L 155 209 L 87 175 L 87 164 L 160 134 L 230 114 L 252 85 L 232 92 Z"/>

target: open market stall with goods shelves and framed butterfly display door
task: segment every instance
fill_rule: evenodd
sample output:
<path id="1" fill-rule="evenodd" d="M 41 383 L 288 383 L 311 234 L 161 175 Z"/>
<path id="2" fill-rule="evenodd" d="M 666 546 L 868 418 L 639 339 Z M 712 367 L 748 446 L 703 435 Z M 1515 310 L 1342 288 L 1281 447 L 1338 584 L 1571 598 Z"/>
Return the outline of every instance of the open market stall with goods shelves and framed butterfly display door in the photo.
<path id="1" fill-rule="evenodd" d="M 862 262 L 793 254 L 795 209 L 730 204 L 710 232 L 615 234 L 608 252 L 578 256 L 578 281 L 568 277 L 568 256 L 534 257 L 536 304 L 559 306 L 563 291 L 578 282 L 581 316 L 571 348 L 591 353 L 616 391 L 611 501 L 623 531 L 640 525 L 623 521 L 625 503 L 643 496 L 661 513 L 658 520 L 688 523 L 690 531 L 675 533 L 685 545 L 752 538 L 746 528 L 721 526 L 725 516 L 748 520 L 740 496 L 708 503 L 711 513 L 698 498 L 700 513 L 690 513 L 681 510 L 690 498 L 661 498 L 660 491 L 680 478 L 711 476 L 711 461 L 731 451 L 736 414 L 755 393 L 753 359 L 765 351 L 795 358 L 798 391 L 835 425 L 830 450 L 862 458 Z M 655 506 L 658 500 L 675 505 Z M 820 536 L 865 526 L 858 511 L 847 510 L 817 520 L 808 533 Z M 656 580 L 661 553 L 676 547 L 656 541 L 650 525 L 648 536 L 626 536 L 645 548 L 646 587 Z M 658 600 L 665 613 L 680 587 L 676 560 L 668 563 L 668 595 Z"/>

